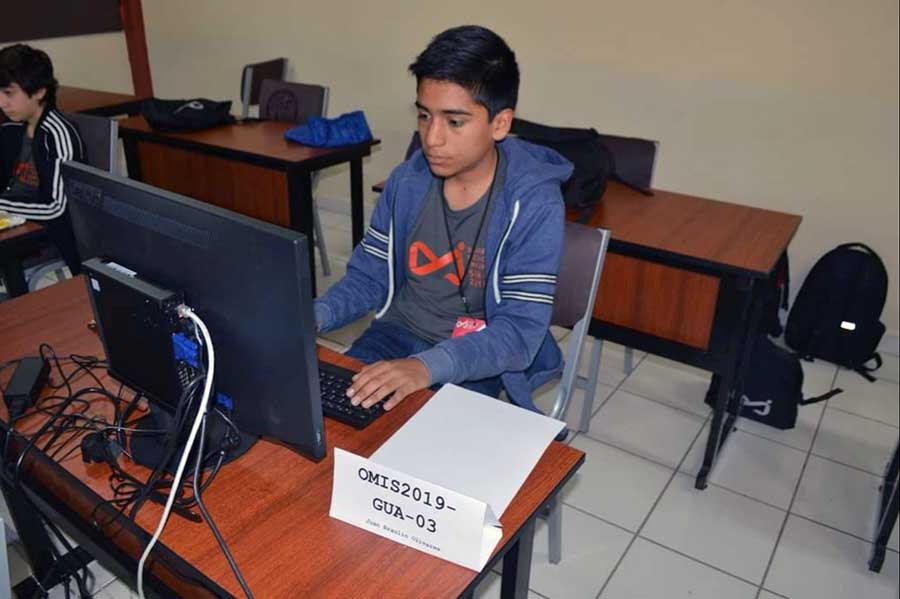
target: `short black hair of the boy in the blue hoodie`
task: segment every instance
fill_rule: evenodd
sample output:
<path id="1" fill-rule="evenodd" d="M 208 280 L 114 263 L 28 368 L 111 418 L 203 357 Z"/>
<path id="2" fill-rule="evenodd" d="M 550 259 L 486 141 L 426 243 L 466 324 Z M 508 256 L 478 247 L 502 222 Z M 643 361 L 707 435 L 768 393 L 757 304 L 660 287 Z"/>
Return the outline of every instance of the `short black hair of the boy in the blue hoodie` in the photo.
<path id="1" fill-rule="evenodd" d="M 436 79 L 466 88 L 487 108 L 491 120 L 501 110 L 515 110 L 519 99 L 515 53 L 503 38 L 478 25 L 453 27 L 436 35 L 409 71 L 417 85 L 423 79 Z"/>

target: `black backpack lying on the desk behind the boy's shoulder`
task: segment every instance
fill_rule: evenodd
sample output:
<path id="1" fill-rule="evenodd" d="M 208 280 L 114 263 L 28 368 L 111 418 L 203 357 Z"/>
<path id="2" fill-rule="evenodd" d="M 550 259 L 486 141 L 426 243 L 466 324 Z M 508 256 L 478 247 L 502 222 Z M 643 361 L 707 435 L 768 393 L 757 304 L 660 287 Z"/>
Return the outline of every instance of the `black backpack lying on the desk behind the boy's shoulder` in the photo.
<path id="1" fill-rule="evenodd" d="M 615 156 L 595 129 L 549 127 L 517 118 L 510 132 L 525 141 L 556 150 L 572 163 L 575 167 L 572 176 L 562 185 L 563 200 L 570 208 L 582 209 L 599 201 L 610 179 L 644 195 L 653 195 L 617 175 Z"/>

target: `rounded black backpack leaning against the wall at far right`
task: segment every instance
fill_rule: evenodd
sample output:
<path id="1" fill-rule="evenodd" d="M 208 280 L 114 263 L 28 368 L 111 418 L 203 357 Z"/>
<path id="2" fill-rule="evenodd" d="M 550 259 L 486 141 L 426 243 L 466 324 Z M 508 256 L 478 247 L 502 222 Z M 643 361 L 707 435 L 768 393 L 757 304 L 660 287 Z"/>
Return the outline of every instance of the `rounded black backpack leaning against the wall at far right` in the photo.
<path id="1" fill-rule="evenodd" d="M 887 270 L 861 243 L 834 248 L 812 267 L 788 316 L 785 341 L 804 359 L 822 358 L 868 372 L 881 366 L 875 351 L 884 335 L 881 311 Z M 866 366 L 874 360 L 875 366 Z"/>

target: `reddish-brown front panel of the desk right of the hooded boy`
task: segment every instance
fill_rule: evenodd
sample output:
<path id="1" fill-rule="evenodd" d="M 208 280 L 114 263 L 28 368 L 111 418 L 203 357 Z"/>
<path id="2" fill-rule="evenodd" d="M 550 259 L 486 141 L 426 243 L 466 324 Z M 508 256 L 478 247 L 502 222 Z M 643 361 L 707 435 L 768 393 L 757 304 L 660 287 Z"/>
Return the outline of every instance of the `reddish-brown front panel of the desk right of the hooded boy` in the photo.
<path id="1" fill-rule="evenodd" d="M 718 293 L 716 277 L 610 252 L 594 318 L 705 351 Z"/>

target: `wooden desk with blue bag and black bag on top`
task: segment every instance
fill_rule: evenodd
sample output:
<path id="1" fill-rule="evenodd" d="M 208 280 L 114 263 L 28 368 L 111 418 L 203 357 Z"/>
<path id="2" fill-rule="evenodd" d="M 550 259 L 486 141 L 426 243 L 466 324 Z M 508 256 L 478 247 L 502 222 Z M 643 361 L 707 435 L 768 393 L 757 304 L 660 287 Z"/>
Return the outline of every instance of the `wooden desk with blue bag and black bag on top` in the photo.
<path id="1" fill-rule="evenodd" d="M 341 148 L 287 141 L 292 123 L 249 120 L 190 133 L 154 131 L 143 117 L 119 122 L 128 174 L 133 179 L 200 199 L 306 234 L 310 272 L 313 244 L 313 171 L 350 163 L 353 245 L 363 237 L 362 159 L 372 140 Z M 315 277 L 313 295 L 315 295 Z"/>

